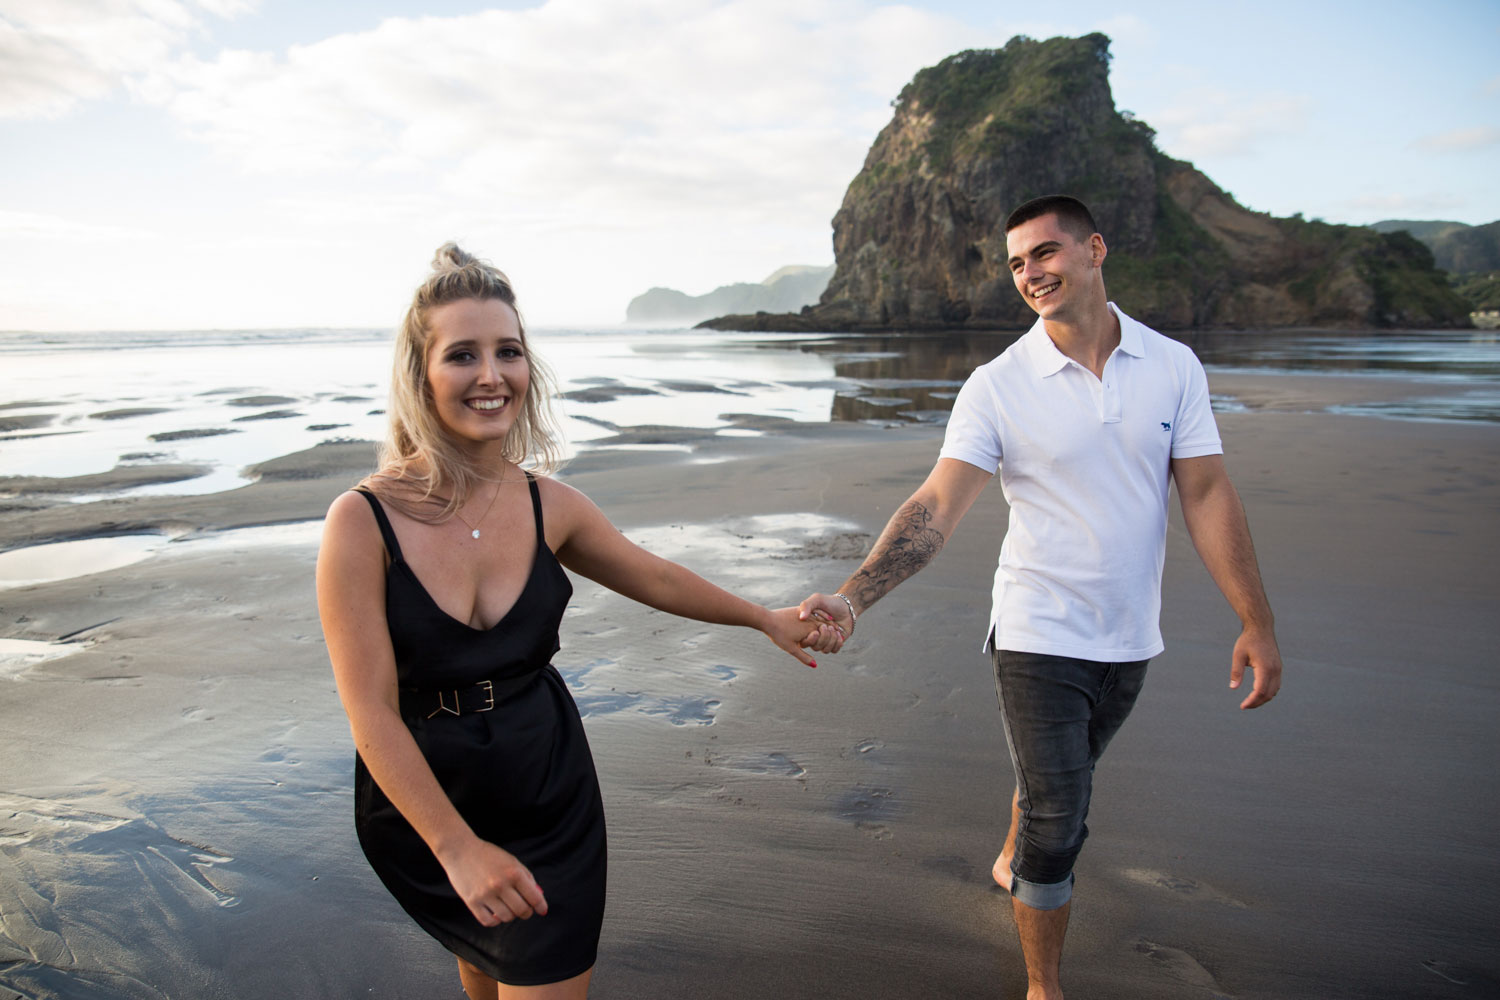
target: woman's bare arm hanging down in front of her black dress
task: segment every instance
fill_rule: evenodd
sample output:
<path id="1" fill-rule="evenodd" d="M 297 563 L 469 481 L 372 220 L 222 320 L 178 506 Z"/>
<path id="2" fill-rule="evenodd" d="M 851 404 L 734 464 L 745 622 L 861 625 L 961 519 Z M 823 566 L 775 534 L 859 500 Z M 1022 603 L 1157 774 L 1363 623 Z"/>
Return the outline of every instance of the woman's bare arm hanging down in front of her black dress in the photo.
<path id="1" fill-rule="evenodd" d="M 363 496 L 344 493 L 328 508 L 318 550 L 318 615 L 364 766 L 432 849 L 474 919 L 494 927 L 532 912 L 544 916 L 536 879 L 514 855 L 474 835 L 400 718 L 386 624 L 386 547 Z"/>

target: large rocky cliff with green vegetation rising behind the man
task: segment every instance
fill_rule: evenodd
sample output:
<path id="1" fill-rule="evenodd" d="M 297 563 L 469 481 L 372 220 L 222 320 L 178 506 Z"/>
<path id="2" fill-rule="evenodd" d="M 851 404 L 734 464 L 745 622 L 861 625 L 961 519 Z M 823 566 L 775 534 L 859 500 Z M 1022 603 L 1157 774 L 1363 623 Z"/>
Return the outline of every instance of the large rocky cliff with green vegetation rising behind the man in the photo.
<path id="1" fill-rule="evenodd" d="M 1234 202 L 1114 109 L 1108 39 L 1011 39 L 916 73 L 834 216 L 818 306 L 720 328 L 1024 327 L 1005 217 L 1070 193 L 1108 244 L 1104 280 L 1164 328 L 1449 327 L 1467 309 L 1408 234 L 1275 219 Z"/>

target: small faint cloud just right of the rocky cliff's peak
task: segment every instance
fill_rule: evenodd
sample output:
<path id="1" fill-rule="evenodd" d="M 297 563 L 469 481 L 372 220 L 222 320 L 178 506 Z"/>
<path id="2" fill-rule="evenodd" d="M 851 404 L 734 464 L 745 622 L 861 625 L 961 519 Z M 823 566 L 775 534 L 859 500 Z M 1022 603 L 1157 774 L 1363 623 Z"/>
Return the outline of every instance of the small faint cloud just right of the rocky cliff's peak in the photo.
<path id="1" fill-rule="evenodd" d="M 1148 115 L 1158 145 L 1173 156 L 1250 156 L 1264 139 L 1304 130 L 1310 99 L 1270 93 L 1254 99 L 1208 90 L 1191 103 Z"/>

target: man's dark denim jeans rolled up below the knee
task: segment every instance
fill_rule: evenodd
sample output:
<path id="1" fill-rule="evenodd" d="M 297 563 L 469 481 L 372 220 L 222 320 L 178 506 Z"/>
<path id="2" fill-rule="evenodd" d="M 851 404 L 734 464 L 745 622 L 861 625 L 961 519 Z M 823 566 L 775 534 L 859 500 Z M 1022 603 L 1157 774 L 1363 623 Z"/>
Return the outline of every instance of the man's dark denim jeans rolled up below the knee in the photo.
<path id="1" fill-rule="evenodd" d="M 993 658 L 1022 811 L 1011 895 L 1054 910 L 1072 897 L 1072 862 L 1089 835 L 1094 765 L 1134 708 L 1149 661 L 1096 663 L 1010 649 L 994 651 Z"/>

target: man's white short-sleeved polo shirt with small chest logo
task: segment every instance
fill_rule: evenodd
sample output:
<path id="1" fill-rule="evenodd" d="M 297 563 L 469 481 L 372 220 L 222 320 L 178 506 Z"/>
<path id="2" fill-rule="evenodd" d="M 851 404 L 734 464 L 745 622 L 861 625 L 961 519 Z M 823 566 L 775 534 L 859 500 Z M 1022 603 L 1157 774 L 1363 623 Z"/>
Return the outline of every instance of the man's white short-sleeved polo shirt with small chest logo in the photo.
<path id="1" fill-rule="evenodd" d="M 999 649 L 1106 663 L 1162 651 L 1168 463 L 1224 448 L 1192 351 L 1110 309 L 1120 343 L 1102 379 L 1038 318 L 954 400 L 942 457 L 999 469 L 1011 505 L 990 612 Z"/>

